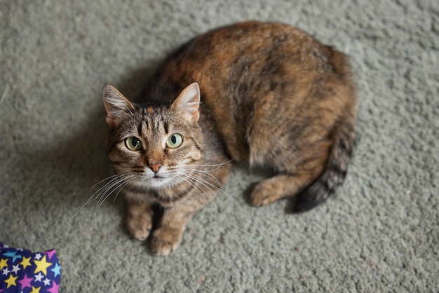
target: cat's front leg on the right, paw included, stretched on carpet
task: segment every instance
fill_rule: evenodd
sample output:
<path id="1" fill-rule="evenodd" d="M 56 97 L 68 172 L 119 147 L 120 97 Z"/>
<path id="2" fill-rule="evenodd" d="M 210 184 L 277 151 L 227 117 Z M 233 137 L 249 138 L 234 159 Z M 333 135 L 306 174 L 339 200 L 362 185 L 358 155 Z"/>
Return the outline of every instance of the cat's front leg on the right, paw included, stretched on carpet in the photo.
<path id="1" fill-rule="evenodd" d="M 167 207 L 151 237 L 151 250 L 158 255 L 168 255 L 182 242 L 186 224 L 201 206 L 178 205 Z"/>

